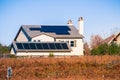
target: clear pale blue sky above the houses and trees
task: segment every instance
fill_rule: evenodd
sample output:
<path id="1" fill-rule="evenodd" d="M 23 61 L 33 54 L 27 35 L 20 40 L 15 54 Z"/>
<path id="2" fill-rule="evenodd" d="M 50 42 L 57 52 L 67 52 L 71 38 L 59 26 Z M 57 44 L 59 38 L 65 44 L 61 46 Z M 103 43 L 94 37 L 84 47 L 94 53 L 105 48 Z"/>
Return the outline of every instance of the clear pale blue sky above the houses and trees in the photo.
<path id="1" fill-rule="evenodd" d="M 120 0 L 0 0 L 0 43 L 10 45 L 21 25 L 67 25 L 84 18 L 84 40 L 120 32 Z"/>

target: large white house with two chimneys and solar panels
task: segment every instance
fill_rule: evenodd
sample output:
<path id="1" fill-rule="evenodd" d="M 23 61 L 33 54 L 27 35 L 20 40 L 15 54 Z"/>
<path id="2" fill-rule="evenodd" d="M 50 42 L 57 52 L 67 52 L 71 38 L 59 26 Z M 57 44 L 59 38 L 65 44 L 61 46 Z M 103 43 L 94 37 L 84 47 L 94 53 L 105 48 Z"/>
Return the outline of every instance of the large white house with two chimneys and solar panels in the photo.
<path id="1" fill-rule="evenodd" d="M 67 25 L 22 25 L 11 45 L 16 56 L 80 56 L 83 54 L 83 18 L 78 29 Z"/>

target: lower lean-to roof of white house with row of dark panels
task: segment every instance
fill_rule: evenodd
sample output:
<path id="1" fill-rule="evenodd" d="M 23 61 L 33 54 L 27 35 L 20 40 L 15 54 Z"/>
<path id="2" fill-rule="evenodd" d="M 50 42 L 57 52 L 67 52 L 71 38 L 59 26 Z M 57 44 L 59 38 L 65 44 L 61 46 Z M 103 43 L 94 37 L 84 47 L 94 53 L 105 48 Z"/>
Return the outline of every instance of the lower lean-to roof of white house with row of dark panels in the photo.
<path id="1" fill-rule="evenodd" d="M 69 52 L 70 46 L 66 42 L 13 42 L 17 52 Z"/>

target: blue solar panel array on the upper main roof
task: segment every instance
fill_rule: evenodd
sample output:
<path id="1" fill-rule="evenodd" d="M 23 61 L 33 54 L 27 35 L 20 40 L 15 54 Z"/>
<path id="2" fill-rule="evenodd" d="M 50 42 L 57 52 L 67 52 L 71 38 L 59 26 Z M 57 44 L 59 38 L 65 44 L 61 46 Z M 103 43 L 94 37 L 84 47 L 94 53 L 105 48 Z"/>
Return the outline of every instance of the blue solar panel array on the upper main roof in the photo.
<path id="1" fill-rule="evenodd" d="M 68 26 L 41 26 L 41 28 L 30 28 L 30 30 L 51 32 L 57 35 L 69 35 L 70 28 Z"/>

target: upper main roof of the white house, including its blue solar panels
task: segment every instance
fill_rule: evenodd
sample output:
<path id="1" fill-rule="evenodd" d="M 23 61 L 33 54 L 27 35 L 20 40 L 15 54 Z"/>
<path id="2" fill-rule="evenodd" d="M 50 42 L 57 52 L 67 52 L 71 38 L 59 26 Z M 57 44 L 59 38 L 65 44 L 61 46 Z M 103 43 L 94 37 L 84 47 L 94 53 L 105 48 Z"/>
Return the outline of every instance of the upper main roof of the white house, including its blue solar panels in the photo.
<path id="1" fill-rule="evenodd" d="M 72 25 L 22 25 L 21 28 L 30 38 L 43 34 L 54 38 L 83 38 Z"/>

